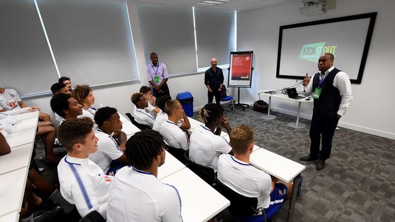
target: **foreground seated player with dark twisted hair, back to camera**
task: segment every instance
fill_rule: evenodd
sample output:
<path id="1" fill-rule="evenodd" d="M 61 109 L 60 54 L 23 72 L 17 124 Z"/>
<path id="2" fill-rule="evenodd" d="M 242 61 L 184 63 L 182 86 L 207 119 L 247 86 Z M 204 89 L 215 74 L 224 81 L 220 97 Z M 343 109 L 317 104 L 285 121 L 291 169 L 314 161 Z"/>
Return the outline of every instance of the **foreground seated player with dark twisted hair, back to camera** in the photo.
<path id="1" fill-rule="evenodd" d="M 130 166 L 120 169 L 110 188 L 107 221 L 182 221 L 175 187 L 158 180 L 165 142 L 153 130 L 134 134 L 126 144 Z"/>

